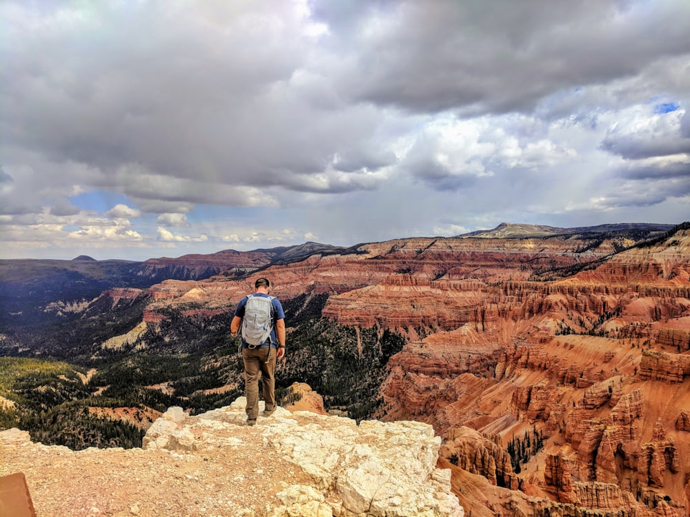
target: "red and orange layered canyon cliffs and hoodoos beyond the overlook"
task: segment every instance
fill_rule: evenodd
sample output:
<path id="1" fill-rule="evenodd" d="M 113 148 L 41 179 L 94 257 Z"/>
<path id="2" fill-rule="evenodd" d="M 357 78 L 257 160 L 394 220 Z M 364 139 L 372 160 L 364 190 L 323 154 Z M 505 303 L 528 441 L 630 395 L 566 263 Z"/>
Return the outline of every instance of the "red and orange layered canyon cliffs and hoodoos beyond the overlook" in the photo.
<path id="1" fill-rule="evenodd" d="M 348 332 L 384 362 L 368 418 L 430 425 L 466 515 L 687 517 L 690 226 L 541 230 L 328 247 L 74 310 L 136 307 L 85 354 L 188 353 L 171 329 L 210 332 L 267 276 L 288 325 L 278 376 L 308 361 L 307 314 Z"/>

